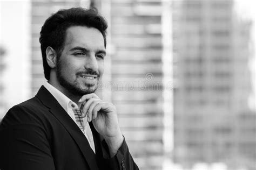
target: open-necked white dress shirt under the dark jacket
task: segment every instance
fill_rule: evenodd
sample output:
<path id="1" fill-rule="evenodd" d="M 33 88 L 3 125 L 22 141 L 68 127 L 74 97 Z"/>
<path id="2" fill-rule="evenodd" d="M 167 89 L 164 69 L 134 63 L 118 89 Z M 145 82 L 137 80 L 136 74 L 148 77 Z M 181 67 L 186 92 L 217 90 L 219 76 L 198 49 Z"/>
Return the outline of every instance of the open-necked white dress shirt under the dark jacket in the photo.
<path id="1" fill-rule="evenodd" d="M 56 98 L 58 103 L 62 106 L 62 108 L 68 113 L 68 115 L 72 118 L 72 120 L 77 124 L 75 114 L 73 112 L 73 109 L 79 109 L 81 103 L 78 103 L 77 105 L 75 102 L 71 101 L 69 97 L 65 96 L 61 91 L 53 87 L 49 82 L 44 83 L 44 87 L 52 94 L 53 97 Z M 83 121 L 85 124 L 84 131 L 81 130 L 87 140 L 89 141 L 89 144 L 95 153 L 95 145 L 93 141 L 92 131 L 90 128 L 89 123 L 87 123 L 87 115 L 83 118 Z M 79 125 L 77 124 L 79 127 Z"/>

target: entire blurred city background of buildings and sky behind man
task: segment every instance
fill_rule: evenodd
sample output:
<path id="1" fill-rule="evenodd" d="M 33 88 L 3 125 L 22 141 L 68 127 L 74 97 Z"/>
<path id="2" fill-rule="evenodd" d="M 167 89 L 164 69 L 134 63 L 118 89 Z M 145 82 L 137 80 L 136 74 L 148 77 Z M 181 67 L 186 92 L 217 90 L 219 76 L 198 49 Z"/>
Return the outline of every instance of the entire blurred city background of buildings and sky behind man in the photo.
<path id="1" fill-rule="evenodd" d="M 41 26 L 73 6 L 109 23 L 98 93 L 140 169 L 256 169 L 253 0 L 0 0 L 0 119 L 45 81 Z"/>

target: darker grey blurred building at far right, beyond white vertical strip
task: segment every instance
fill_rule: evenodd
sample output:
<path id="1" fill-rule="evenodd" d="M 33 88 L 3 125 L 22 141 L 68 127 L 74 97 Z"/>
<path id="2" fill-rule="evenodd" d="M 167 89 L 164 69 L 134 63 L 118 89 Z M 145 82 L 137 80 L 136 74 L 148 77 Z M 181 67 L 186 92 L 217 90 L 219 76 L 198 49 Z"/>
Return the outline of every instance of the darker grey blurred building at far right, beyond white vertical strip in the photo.
<path id="1" fill-rule="evenodd" d="M 251 23 L 231 0 L 173 1 L 174 162 L 256 169 Z"/>

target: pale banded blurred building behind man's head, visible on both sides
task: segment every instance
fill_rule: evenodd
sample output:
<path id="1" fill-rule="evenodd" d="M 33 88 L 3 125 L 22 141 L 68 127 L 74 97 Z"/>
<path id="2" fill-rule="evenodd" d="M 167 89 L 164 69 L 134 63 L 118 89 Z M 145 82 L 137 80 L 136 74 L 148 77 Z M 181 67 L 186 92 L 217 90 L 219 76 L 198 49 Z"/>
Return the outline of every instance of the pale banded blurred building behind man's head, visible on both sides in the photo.
<path id="1" fill-rule="evenodd" d="M 105 60 L 103 98 L 116 105 L 122 132 L 140 169 L 161 169 L 164 154 L 161 0 L 32 0 L 32 95 L 45 81 L 39 44 L 45 19 L 59 9 L 87 8 L 90 4 L 109 23 L 107 54 L 110 56 Z"/>

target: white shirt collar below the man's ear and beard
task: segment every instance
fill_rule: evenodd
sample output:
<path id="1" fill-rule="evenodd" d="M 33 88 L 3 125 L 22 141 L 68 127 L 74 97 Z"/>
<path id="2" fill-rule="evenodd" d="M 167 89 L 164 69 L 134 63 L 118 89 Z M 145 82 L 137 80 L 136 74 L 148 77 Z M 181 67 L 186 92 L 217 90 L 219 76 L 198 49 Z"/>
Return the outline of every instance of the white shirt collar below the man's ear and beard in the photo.
<path id="1" fill-rule="evenodd" d="M 68 108 L 71 107 L 71 105 L 75 105 L 75 107 L 72 108 L 78 108 L 78 105 L 75 102 L 71 101 L 69 97 L 64 95 L 57 88 L 53 87 L 49 82 L 45 82 L 44 87 L 52 94 L 53 97 L 56 98 L 58 103 L 66 112 L 68 112 Z"/>

